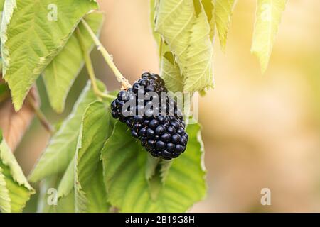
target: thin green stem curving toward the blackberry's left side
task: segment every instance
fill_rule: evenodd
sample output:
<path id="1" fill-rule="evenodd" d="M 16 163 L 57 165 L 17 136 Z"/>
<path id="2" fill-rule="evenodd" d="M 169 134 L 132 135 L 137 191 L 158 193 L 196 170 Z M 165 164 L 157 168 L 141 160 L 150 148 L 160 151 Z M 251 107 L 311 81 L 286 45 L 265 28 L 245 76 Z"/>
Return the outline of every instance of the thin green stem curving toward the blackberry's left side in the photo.
<path id="1" fill-rule="evenodd" d="M 104 92 L 101 92 L 99 87 L 97 86 L 97 79 L 95 77 L 95 70 L 93 69 L 93 66 L 92 66 L 90 54 L 85 49 L 85 43 L 83 40 L 83 36 L 82 36 L 79 28 L 76 28 L 75 32 L 77 34 L 77 38 L 78 38 L 78 41 L 79 41 L 81 49 L 82 49 L 82 54 L 85 59 L 85 66 L 87 67 L 87 73 L 89 74 L 89 78 L 92 82 L 93 92 L 95 92 L 95 95 L 97 97 L 99 97 L 100 99 L 102 99 L 102 98 L 114 99 L 115 98 L 114 96 L 112 96 L 110 94 L 105 94 Z"/>

